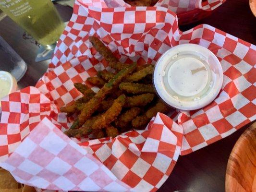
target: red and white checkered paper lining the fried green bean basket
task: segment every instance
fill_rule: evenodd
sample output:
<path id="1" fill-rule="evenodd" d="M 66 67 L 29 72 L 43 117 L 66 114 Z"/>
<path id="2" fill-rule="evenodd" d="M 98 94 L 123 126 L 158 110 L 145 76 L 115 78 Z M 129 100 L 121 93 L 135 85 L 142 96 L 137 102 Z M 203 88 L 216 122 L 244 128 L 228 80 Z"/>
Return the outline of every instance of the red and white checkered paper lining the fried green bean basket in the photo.
<path id="1" fill-rule="evenodd" d="M 88 36 L 99 36 L 121 61 L 138 64 L 154 64 L 175 45 L 199 44 L 220 60 L 222 89 L 207 107 L 171 118 L 158 113 L 142 131 L 70 139 L 62 132 L 72 120 L 59 108 L 81 97 L 73 83 L 109 69 Z M 48 190 L 156 191 L 180 154 L 256 119 L 255 65 L 256 46 L 209 25 L 181 32 L 176 15 L 164 7 L 99 8 L 76 1 L 48 72 L 36 87 L 2 101 L 0 166 L 19 182 Z"/>

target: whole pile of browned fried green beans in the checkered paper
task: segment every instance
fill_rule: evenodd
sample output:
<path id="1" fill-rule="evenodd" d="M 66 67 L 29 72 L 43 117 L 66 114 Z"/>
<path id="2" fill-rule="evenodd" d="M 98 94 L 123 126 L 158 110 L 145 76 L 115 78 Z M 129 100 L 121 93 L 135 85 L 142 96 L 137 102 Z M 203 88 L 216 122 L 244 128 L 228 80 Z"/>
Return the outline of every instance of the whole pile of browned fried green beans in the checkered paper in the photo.
<path id="1" fill-rule="evenodd" d="M 61 112 L 67 112 L 68 116 L 78 113 L 78 119 L 73 121 L 73 125 L 65 132 L 66 135 L 78 138 L 89 134 L 93 134 L 95 138 L 115 137 L 134 127 L 142 128 L 158 110 L 168 112 L 166 109 L 169 108 L 156 98 L 152 85 L 153 65 L 121 63 L 97 37 L 89 39 L 116 72 L 99 71 L 97 77 L 86 80 L 95 86 L 102 86 L 98 93 L 94 93 L 85 84 L 74 84 L 84 96 L 74 104 L 61 108 Z M 139 107 L 144 107 L 145 110 Z M 135 119 L 138 122 L 133 127 Z M 143 120 L 140 122 L 140 119 Z M 137 126 L 138 124 L 141 126 Z"/>

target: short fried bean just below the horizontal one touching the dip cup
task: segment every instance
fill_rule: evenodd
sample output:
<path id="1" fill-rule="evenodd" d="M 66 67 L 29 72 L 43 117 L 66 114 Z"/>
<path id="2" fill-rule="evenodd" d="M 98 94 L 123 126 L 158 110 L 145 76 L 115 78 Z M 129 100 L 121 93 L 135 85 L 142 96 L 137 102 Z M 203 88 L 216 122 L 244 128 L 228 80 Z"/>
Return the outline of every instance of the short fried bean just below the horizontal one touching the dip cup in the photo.
<path id="1" fill-rule="evenodd" d="M 151 101 L 153 101 L 155 95 L 152 93 L 146 93 L 138 96 L 129 96 L 126 97 L 124 108 L 132 107 L 144 107 Z"/>

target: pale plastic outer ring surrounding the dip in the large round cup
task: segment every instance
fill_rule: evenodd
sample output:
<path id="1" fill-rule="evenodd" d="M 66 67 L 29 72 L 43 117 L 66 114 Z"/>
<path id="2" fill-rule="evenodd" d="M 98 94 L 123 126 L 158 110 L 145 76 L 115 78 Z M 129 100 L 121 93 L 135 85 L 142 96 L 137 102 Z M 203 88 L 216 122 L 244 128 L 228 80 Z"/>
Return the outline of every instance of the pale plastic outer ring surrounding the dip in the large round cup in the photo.
<path id="1" fill-rule="evenodd" d="M 163 80 L 163 76 L 165 76 L 166 69 L 168 67 L 168 69 L 170 69 L 170 65 L 173 64 L 174 61 L 171 61 L 173 60 L 172 58 L 177 57 L 177 55 L 179 55 L 179 57 L 183 54 L 186 55 L 187 52 L 199 58 L 198 62 L 200 62 L 200 58 L 202 58 L 202 61 L 208 65 L 207 67 L 210 69 L 210 74 L 213 74 L 214 78 L 212 79 L 212 85 L 207 94 L 197 100 L 183 101 L 178 100 L 173 92 L 170 93 L 170 90 L 166 89 L 167 83 Z M 183 58 L 184 57 L 185 56 L 183 56 Z M 190 57 L 188 57 L 188 60 L 189 59 Z M 167 62 L 167 60 L 170 62 Z M 153 73 L 153 84 L 158 96 L 169 106 L 182 110 L 195 110 L 207 106 L 218 96 L 223 84 L 223 71 L 218 58 L 209 49 L 196 44 L 182 44 L 167 50 L 158 59 Z"/>

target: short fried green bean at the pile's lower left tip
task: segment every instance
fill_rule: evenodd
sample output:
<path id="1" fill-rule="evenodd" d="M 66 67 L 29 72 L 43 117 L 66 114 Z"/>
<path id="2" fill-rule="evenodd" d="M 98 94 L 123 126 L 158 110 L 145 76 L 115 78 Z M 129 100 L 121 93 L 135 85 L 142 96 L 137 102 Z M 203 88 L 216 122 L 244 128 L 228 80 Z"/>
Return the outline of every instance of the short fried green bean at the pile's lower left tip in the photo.
<path id="1" fill-rule="evenodd" d="M 69 137 L 82 137 L 85 135 L 89 135 L 93 129 L 92 129 L 92 125 L 93 123 L 99 118 L 100 116 L 95 116 L 92 119 L 86 120 L 84 125 L 82 127 L 80 127 L 79 129 L 69 129 L 67 131 L 65 131 L 64 133 L 69 136 Z M 78 123 L 79 121 L 76 120 L 74 121 L 73 124 Z"/>

